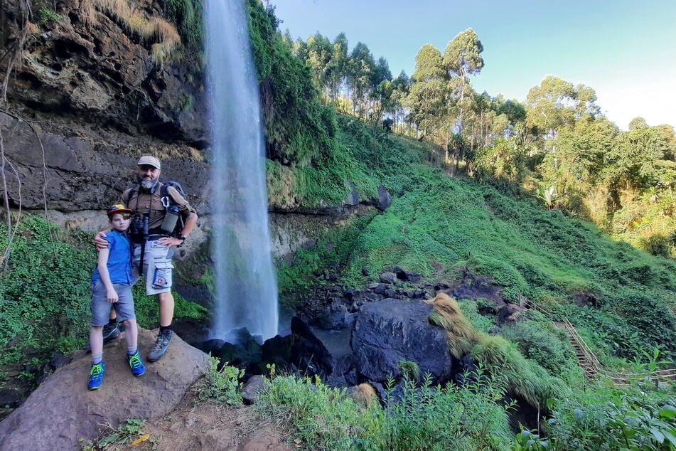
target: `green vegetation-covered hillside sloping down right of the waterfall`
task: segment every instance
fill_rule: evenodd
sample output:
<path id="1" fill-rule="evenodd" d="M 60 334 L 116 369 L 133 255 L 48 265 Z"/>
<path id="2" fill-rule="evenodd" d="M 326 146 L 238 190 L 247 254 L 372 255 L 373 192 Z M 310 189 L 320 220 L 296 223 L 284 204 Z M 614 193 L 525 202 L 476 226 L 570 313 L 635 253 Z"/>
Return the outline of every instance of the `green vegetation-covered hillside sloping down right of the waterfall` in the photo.
<path id="1" fill-rule="evenodd" d="M 338 124 L 336 147 L 348 166 L 360 169 L 360 192 L 369 196 L 385 184 L 392 206 L 299 250 L 296 265 L 281 270 L 283 292 L 312 282 L 314 270 L 335 262 L 355 286 L 366 282 L 363 267 L 377 273 L 398 265 L 451 282 L 467 269 L 492 276 L 508 302 L 524 295 L 567 315 L 608 355 L 632 359 L 653 346 L 675 351 L 672 259 L 611 240 L 528 193 L 453 179 L 426 164 L 428 152 L 417 142 L 384 135 L 374 149 L 370 127 L 346 117 Z M 593 298 L 596 308 L 577 307 L 576 298 Z"/>

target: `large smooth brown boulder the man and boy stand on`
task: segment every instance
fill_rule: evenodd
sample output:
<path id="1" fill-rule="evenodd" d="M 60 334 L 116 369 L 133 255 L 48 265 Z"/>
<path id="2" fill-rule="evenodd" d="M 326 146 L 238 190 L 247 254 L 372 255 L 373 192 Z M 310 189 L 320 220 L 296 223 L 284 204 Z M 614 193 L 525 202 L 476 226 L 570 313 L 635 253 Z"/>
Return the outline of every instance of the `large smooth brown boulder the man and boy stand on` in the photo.
<path id="1" fill-rule="evenodd" d="M 155 333 L 139 329 L 139 349 L 146 356 Z M 129 371 L 124 340 L 104 347 L 106 372 L 97 391 L 87 390 L 89 354 L 80 351 L 58 369 L 0 423 L 0 450 L 80 449 L 77 440 L 97 436 L 100 425 L 116 428 L 129 417 L 162 418 L 207 371 L 209 359 L 174 334 L 160 361 L 146 363 L 146 373 Z"/>

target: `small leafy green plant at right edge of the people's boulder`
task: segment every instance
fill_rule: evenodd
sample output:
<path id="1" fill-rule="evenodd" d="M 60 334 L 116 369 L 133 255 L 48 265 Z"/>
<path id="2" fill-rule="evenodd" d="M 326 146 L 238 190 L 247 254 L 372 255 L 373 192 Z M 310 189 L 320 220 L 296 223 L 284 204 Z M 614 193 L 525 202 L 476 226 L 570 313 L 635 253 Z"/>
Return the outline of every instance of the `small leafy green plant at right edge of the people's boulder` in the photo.
<path id="1" fill-rule="evenodd" d="M 210 360 L 209 371 L 200 381 L 197 389 L 197 400 L 209 400 L 214 403 L 240 405 L 242 394 L 240 379 L 244 377 L 244 370 L 227 364 L 219 364 L 214 357 Z"/>

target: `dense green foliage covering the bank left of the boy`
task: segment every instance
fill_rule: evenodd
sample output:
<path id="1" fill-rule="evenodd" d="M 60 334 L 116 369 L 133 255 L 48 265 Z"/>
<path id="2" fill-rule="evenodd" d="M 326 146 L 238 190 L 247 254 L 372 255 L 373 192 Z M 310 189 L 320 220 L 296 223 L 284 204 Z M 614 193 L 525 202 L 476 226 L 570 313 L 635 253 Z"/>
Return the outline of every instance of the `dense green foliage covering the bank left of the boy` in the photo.
<path id="1" fill-rule="evenodd" d="M 96 265 L 91 236 L 65 232 L 37 216 L 16 225 L 9 269 L 0 277 L 1 363 L 19 361 L 26 346 L 47 358 L 85 344 L 90 280 Z M 6 223 L 0 248 L 6 248 Z M 70 242 L 64 242 L 68 239 Z"/>

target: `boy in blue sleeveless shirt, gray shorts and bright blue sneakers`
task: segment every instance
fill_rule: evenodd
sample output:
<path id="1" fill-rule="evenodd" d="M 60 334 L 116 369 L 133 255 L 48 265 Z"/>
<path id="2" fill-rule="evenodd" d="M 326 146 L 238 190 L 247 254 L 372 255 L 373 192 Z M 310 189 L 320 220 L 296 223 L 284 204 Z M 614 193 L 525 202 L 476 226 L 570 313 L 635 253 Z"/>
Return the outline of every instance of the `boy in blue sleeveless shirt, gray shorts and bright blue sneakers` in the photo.
<path id="1" fill-rule="evenodd" d="M 107 248 L 99 250 L 99 258 L 92 275 L 92 369 L 87 388 L 96 390 L 103 382 L 106 365 L 103 361 L 103 327 L 108 323 L 111 307 L 114 306 L 119 321 L 126 326 L 127 361 L 134 376 L 146 372 L 139 349 L 136 347 L 138 329 L 132 297 L 132 253 L 127 236 L 132 210 L 122 205 L 108 208 L 112 230 L 106 233 Z"/>

